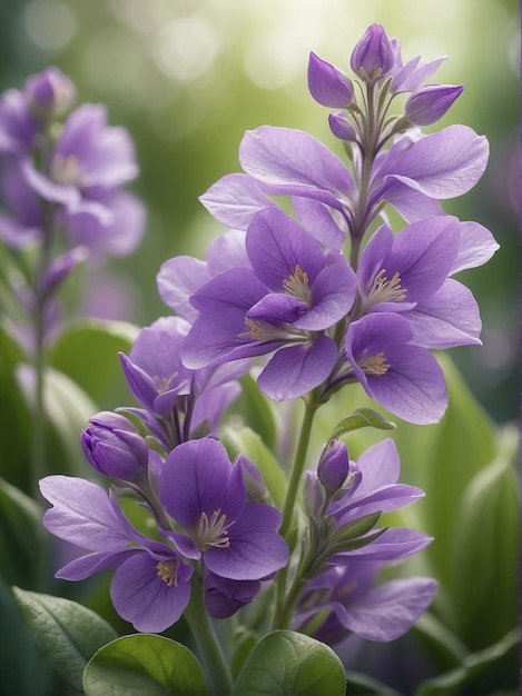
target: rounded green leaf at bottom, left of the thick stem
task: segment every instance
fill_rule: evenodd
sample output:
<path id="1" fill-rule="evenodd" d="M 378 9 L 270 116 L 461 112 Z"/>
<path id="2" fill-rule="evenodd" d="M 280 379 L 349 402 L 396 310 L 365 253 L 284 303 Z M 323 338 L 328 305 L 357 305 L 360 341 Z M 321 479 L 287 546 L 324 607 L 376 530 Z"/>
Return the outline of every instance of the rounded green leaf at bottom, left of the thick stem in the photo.
<path id="1" fill-rule="evenodd" d="M 87 665 L 88 696 L 204 696 L 207 685 L 195 655 L 180 643 L 154 634 L 117 638 Z"/>

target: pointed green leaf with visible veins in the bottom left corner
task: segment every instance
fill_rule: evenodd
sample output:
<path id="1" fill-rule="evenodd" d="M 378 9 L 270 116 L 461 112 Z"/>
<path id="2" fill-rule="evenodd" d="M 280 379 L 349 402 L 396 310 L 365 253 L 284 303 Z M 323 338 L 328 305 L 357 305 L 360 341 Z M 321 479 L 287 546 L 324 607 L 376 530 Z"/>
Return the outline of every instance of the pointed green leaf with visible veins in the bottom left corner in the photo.
<path id="1" fill-rule="evenodd" d="M 66 682 L 82 690 L 88 660 L 100 646 L 114 640 L 114 629 L 97 614 L 70 599 L 19 587 L 12 591 L 42 655 Z"/>

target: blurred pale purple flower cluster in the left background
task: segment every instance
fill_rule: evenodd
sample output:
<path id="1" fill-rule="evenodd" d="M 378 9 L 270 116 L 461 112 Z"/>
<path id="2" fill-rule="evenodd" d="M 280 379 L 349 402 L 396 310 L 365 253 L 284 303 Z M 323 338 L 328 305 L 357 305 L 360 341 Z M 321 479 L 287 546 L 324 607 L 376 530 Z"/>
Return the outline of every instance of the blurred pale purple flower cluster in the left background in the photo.
<path id="1" fill-rule="evenodd" d="M 124 128 L 108 126 L 102 105 L 81 105 L 62 122 L 73 99 L 58 68 L 1 96 L 0 236 L 26 248 L 42 242 L 52 222 L 66 231 L 67 248 L 130 253 L 145 222 L 141 203 L 121 189 L 138 173 L 132 142 Z"/>

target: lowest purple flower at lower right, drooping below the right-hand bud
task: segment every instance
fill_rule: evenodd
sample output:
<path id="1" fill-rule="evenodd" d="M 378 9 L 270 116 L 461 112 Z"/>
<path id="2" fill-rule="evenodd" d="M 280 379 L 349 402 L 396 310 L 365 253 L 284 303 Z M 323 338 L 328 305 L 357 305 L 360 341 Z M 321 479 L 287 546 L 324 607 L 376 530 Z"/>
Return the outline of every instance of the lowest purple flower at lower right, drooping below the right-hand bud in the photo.
<path id="1" fill-rule="evenodd" d="M 382 566 L 382 561 L 357 561 L 315 577 L 299 601 L 294 627 L 304 629 L 319 613 L 331 609 L 314 633 L 328 644 L 349 633 L 380 642 L 405 634 L 432 603 L 437 583 L 427 577 L 411 577 L 376 585 Z"/>

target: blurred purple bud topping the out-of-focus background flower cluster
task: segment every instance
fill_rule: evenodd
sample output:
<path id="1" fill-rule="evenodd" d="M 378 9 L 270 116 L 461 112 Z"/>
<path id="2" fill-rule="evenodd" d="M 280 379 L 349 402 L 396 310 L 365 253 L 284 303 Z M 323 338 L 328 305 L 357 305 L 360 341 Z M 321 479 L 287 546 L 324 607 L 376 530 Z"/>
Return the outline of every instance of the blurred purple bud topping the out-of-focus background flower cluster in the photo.
<path id="1" fill-rule="evenodd" d="M 41 120 L 61 116 L 75 100 L 75 86 L 58 68 L 47 68 L 26 80 L 23 95 L 31 113 Z"/>

